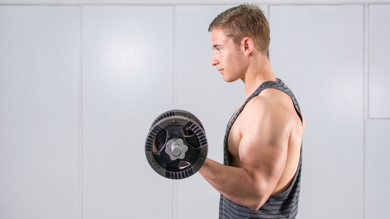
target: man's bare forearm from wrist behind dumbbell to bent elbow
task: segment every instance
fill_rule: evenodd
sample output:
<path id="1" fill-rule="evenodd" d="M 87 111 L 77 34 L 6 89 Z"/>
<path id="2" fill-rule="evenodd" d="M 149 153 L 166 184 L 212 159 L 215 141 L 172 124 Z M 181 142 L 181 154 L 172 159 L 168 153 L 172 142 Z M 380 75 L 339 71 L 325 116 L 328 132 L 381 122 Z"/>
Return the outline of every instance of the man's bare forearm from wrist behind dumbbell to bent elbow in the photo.
<path id="1" fill-rule="evenodd" d="M 206 159 L 199 173 L 218 192 L 229 200 L 254 210 L 261 202 L 259 185 L 255 185 L 252 174 L 233 166 L 225 166 Z"/>

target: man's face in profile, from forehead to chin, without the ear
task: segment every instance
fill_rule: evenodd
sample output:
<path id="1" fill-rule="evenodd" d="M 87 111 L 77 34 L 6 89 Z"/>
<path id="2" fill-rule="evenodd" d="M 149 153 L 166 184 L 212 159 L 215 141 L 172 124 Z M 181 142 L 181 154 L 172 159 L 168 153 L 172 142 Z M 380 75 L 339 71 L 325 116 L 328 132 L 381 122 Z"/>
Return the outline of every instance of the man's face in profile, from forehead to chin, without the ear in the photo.
<path id="1" fill-rule="evenodd" d="M 243 78 L 243 51 L 222 30 L 214 29 L 211 32 L 214 55 L 211 65 L 215 65 L 222 74 L 223 80 L 233 82 Z"/>

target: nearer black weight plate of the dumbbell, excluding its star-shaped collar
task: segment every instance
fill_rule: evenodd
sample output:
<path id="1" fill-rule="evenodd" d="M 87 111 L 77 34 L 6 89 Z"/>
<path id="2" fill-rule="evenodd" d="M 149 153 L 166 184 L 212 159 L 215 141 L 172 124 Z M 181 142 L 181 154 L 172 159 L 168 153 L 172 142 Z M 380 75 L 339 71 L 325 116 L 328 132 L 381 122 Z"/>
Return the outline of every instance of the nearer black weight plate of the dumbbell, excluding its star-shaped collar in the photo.
<path id="1" fill-rule="evenodd" d="M 184 136 L 188 132 L 183 130 L 189 129 L 193 135 Z M 153 144 L 159 133 L 163 136 L 159 141 L 162 147 L 153 151 Z M 188 138 L 190 137 L 190 138 Z M 194 138 L 195 137 L 195 138 Z M 166 138 L 164 140 L 163 138 Z M 184 145 L 188 147 L 183 159 L 171 160 L 165 152 L 167 143 L 172 140 L 182 139 Z M 191 142 L 192 139 L 192 142 Z M 183 116 L 170 116 L 162 118 L 149 131 L 145 141 L 145 155 L 149 165 L 154 171 L 163 177 L 170 179 L 187 178 L 196 173 L 203 165 L 207 157 L 207 138 L 204 130 L 194 120 Z M 189 164 L 189 165 L 185 165 Z M 181 166 L 184 166 L 183 168 Z"/>

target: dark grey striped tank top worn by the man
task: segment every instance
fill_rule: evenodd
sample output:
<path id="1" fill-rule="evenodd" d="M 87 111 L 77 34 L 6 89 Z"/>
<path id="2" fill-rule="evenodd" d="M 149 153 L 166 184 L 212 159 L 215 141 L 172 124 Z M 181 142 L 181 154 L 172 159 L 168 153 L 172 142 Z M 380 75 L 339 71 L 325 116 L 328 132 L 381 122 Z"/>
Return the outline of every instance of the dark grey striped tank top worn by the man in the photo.
<path id="1" fill-rule="evenodd" d="M 246 99 L 241 108 L 233 115 L 232 121 L 227 125 L 225 138 L 223 139 L 223 164 L 231 166 L 229 151 L 227 150 L 227 137 L 229 136 L 230 129 L 234 124 L 234 121 L 241 113 L 246 103 L 253 97 L 260 94 L 260 92 L 266 88 L 275 88 L 288 94 L 293 100 L 296 113 L 302 120 L 301 109 L 296 101 L 293 92 L 283 83 L 282 80 L 277 78 L 277 81 L 266 81 L 260 85 L 255 92 Z M 231 118 L 230 118 L 231 119 Z M 229 120 L 230 121 L 230 120 Z M 291 185 L 282 193 L 269 196 L 268 200 L 258 210 L 251 210 L 242 205 L 238 205 L 221 194 L 219 218 L 220 219 L 243 219 L 243 218 L 266 218 L 266 219 L 291 219 L 295 218 L 298 212 L 298 201 L 300 194 L 300 182 L 301 182 L 301 165 L 302 165 L 302 144 L 301 155 L 299 159 L 298 169 L 294 175 Z"/>

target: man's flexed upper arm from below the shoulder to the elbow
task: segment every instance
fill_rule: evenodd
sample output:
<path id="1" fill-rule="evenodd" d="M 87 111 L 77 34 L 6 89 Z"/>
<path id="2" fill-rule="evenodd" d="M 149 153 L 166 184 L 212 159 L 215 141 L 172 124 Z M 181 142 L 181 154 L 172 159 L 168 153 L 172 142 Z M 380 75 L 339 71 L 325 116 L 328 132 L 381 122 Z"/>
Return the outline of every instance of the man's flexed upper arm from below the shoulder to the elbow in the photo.
<path id="1" fill-rule="evenodd" d="M 250 116 L 241 128 L 239 157 L 243 168 L 252 175 L 262 205 L 283 173 L 291 122 L 283 107 L 261 98 L 246 108 L 246 115 Z"/>

